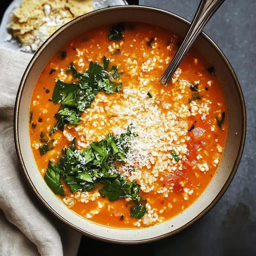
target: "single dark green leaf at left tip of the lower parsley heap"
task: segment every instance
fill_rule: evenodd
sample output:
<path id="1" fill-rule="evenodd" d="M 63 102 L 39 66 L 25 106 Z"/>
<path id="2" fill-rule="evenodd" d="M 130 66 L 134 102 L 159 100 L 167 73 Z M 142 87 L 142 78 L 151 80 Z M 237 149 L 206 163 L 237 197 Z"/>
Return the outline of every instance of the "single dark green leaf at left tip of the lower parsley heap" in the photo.
<path id="1" fill-rule="evenodd" d="M 60 174 L 57 172 L 57 168 L 54 164 L 49 161 L 47 172 L 44 176 L 46 184 L 49 188 L 55 193 L 60 196 L 64 195 L 63 186 L 60 185 Z"/>

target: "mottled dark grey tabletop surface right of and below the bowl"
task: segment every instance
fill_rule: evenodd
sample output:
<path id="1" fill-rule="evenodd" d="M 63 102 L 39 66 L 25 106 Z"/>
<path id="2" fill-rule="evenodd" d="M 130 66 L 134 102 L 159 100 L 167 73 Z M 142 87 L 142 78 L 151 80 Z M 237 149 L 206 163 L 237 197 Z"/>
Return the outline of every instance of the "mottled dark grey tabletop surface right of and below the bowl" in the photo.
<path id="1" fill-rule="evenodd" d="M 140 0 L 192 20 L 199 0 Z M 184 231 L 140 246 L 105 244 L 90 239 L 107 255 L 256 255 L 256 1 L 226 0 L 204 32 L 222 49 L 240 81 L 247 108 L 247 137 L 238 171 L 224 196 Z M 88 238 L 84 239 L 88 242 Z M 101 249 L 102 248 L 102 249 Z M 124 254 L 128 255 L 128 254 Z"/>

